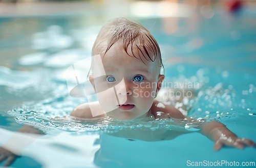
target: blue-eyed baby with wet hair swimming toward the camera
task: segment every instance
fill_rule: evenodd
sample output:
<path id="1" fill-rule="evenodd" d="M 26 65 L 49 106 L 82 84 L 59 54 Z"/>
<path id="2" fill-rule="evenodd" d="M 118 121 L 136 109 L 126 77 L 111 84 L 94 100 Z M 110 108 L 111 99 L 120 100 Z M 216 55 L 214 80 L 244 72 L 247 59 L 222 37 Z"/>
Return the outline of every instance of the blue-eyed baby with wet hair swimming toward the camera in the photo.
<path id="1" fill-rule="evenodd" d="M 155 100 L 164 80 L 160 74 L 163 63 L 156 40 L 142 26 L 125 18 L 110 20 L 99 32 L 92 56 L 89 79 L 98 102 L 79 105 L 71 116 L 91 119 L 110 116 L 119 121 L 147 116 L 190 119 L 175 107 L 163 106 Z M 215 150 L 223 146 L 255 146 L 252 140 L 238 138 L 216 121 L 203 123 L 200 129 L 200 133 L 215 142 Z"/>

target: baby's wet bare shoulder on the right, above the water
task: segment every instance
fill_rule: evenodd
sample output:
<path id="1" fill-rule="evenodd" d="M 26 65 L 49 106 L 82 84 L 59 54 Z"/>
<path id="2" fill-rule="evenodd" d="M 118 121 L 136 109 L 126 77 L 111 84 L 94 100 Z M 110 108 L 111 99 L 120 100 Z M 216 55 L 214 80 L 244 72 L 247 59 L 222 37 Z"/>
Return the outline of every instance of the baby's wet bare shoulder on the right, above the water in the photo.
<path id="1" fill-rule="evenodd" d="M 183 119 L 185 116 L 174 106 L 163 104 L 159 101 L 154 101 L 151 107 L 151 113 L 156 118 L 163 118 L 163 117 L 170 117 L 170 118 L 177 118 Z"/>

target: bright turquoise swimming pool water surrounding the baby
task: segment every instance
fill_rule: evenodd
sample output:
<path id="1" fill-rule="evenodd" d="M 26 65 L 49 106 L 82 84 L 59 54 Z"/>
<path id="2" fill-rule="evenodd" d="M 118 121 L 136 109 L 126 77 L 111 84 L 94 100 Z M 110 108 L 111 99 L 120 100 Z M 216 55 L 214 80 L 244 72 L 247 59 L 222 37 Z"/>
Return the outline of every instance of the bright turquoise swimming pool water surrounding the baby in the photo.
<path id="1" fill-rule="evenodd" d="M 210 19 L 137 18 L 160 45 L 165 82 L 200 83 L 194 90 L 197 97 L 189 101 L 192 108 L 188 115 L 219 118 L 238 136 L 254 141 L 255 17 L 253 11 L 244 10 L 225 17 L 216 13 Z M 145 125 L 123 127 L 125 124 L 120 122 L 95 126 L 52 121 L 51 118 L 67 115 L 86 101 L 69 96 L 65 77 L 67 67 L 90 57 L 100 29 L 89 21 L 81 23 L 82 19 L 58 16 L 0 20 L 5 25 L 19 25 L 22 32 L 1 42 L 3 49 L 14 49 L 13 53 L 6 50 L 1 56 L 8 61 L 1 62 L 0 67 L 0 144 L 23 124 L 46 132 L 31 141 L 13 167 L 187 167 L 203 161 L 208 161 L 206 165 L 222 160 L 230 165 L 256 161 L 256 150 L 252 148 L 214 152 L 214 143 L 199 133 L 172 140 L 141 141 L 110 136 L 108 131 L 140 130 Z M 178 31 L 166 31 L 171 29 L 166 23 L 175 21 Z M 29 140 L 18 136 L 16 143 L 24 139 Z"/>

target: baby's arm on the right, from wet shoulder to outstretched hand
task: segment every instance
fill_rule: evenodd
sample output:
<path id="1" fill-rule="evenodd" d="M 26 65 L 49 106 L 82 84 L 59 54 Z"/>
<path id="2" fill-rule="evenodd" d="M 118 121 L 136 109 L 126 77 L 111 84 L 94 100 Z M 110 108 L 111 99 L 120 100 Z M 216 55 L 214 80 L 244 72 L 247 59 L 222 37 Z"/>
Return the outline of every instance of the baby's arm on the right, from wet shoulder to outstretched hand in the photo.
<path id="1" fill-rule="evenodd" d="M 157 115 L 157 112 L 164 113 L 164 116 L 167 114 L 170 118 L 186 118 L 175 107 L 170 105 L 163 105 L 162 103 L 155 101 L 152 106 L 152 114 L 155 115 L 156 118 L 161 118 L 160 115 Z M 187 121 L 189 121 L 189 119 L 191 118 L 187 118 Z M 232 146 L 241 149 L 244 148 L 245 145 L 255 147 L 255 143 L 252 140 L 238 138 L 237 135 L 227 129 L 224 124 L 216 121 L 204 123 L 200 129 L 201 134 L 215 142 L 214 150 L 216 151 L 220 150 L 223 146 Z"/>

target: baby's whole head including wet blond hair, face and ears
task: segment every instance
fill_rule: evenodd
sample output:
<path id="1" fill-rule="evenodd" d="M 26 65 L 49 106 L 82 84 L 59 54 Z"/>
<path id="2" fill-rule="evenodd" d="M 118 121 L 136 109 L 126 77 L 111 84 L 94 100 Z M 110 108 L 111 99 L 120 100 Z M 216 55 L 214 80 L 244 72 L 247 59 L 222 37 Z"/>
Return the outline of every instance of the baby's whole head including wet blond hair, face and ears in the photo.
<path id="1" fill-rule="evenodd" d="M 92 56 L 89 78 L 103 110 L 121 121 L 147 115 L 164 79 L 150 32 L 125 18 L 112 19 L 99 32 Z"/>

